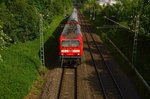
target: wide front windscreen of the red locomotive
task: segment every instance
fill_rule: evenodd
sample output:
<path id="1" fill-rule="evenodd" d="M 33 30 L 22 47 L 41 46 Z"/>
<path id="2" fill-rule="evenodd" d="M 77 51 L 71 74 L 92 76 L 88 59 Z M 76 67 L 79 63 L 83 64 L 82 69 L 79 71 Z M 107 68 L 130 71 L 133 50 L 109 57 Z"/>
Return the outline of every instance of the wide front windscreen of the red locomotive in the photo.
<path id="1" fill-rule="evenodd" d="M 62 41 L 63 47 L 78 47 L 80 46 L 79 40 L 63 40 Z"/>

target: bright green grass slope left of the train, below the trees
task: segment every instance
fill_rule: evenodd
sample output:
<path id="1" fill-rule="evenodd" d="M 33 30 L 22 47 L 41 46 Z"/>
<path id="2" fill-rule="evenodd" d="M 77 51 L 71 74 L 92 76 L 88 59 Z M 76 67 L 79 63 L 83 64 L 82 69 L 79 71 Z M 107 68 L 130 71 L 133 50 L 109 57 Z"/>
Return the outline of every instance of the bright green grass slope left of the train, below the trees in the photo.
<path id="1" fill-rule="evenodd" d="M 46 30 L 45 41 L 63 17 L 56 17 Z M 22 99 L 40 74 L 39 39 L 19 43 L 0 51 L 0 99 Z"/>

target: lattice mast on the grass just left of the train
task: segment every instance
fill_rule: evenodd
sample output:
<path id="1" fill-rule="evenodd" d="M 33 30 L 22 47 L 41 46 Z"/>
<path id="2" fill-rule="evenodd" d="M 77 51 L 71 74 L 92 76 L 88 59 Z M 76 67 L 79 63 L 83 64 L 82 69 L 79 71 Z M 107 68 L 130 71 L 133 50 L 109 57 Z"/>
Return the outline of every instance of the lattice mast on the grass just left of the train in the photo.
<path id="1" fill-rule="evenodd" d="M 44 56 L 44 37 L 43 37 L 43 15 L 40 14 L 40 59 L 41 66 L 45 66 L 45 56 Z"/>

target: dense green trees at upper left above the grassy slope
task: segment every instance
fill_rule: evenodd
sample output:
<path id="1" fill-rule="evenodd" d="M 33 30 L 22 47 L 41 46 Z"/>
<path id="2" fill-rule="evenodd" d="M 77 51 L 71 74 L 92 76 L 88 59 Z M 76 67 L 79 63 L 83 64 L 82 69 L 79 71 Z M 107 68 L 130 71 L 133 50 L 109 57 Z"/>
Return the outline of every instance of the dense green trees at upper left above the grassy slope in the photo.
<path id="1" fill-rule="evenodd" d="M 44 26 L 57 15 L 63 15 L 72 6 L 71 0 L 1 0 L 0 38 L 7 43 L 26 42 L 39 36 L 39 14 L 43 15 Z M 7 37 L 11 41 L 7 41 Z M 4 44 L 2 44 L 4 45 Z M 0 45 L 1 46 L 1 45 Z"/>

